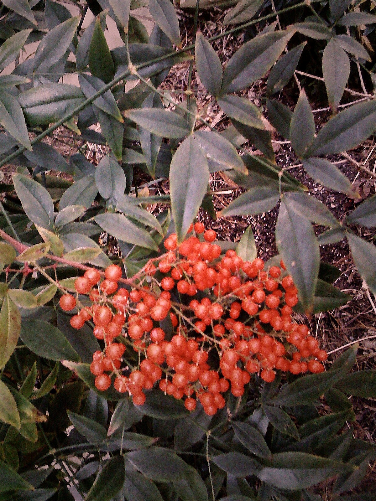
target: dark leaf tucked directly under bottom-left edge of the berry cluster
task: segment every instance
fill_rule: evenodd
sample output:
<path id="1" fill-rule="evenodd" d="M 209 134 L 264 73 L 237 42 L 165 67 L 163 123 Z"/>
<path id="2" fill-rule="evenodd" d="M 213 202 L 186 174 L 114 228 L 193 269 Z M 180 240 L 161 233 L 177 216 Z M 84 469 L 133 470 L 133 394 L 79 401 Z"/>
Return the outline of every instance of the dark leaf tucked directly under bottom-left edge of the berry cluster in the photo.
<path id="1" fill-rule="evenodd" d="M 156 419 L 176 419 L 187 414 L 180 400 L 176 400 L 170 395 L 164 395 L 159 390 L 148 391 L 146 393 L 146 402 L 137 408 L 146 416 L 155 417 Z"/>

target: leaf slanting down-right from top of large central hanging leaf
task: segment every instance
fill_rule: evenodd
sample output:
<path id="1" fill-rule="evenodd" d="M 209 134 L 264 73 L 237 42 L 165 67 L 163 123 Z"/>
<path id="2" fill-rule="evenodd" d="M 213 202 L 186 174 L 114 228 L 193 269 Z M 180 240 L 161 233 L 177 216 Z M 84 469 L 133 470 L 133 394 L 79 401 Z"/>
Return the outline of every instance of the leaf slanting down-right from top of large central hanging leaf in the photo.
<path id="1" fill-rule="evenodd" d="M 235 147 L 217 132 L 198 130 L 194 132 L 194 138 L 208 158 L 223 164 L 224 170 L 235 169 L 243 173 L 248 172 Z"/>

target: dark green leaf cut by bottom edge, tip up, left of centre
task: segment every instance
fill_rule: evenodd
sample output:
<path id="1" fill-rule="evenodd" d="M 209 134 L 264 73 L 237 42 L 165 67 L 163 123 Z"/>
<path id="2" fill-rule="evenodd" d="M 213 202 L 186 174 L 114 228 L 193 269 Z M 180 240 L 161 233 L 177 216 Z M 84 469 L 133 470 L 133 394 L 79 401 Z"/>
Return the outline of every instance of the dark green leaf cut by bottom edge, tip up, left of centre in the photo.
<path id="1" fill-rule="evenodd" d="M 94 480 L 85 501 L 110 501 L 122 488 L 124 478 L 123 456 L 112 457 Z"/>

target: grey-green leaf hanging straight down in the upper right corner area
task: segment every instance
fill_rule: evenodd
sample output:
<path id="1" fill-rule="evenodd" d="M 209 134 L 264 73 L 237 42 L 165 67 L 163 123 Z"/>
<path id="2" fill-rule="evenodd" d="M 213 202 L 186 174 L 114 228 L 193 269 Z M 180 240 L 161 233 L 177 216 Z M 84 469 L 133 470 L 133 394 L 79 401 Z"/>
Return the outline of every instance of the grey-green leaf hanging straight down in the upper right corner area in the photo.
<path id="1" fill-rule="evenodd" d="M 350 75 L 350 60 L 336 40 L 327 43 L 322 55 L 322 75 L 332 111 L 338 109 Z"/>

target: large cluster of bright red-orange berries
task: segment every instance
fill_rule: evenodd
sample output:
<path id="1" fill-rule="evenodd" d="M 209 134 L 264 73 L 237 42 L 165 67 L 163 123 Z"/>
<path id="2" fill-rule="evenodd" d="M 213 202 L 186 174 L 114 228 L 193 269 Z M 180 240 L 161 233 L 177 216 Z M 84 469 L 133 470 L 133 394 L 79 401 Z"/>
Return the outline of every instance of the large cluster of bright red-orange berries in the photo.
<path id="1" fill-rule="evenodd" d="M 216 232 L 199 222 L 180 245 L 171 234 L 167 253 L 150 261 L 130 290 L 118 288 L 117 265 L 102 281 L 94 269 L 76 280 L 77 295 L 89 295 L 92 306 L 80 308 L 71 325 L 80 329 L 92 321 L 104 346 L 90 366 L 98 390 L 113 381 L 142 405 L 144 390 L 159 381 L 160 390 L 184 398 L 188 410 L 200 400 L 213 415 L 225 405 L 223 393 L 243 395 L 252 374 L 272 382 L 276 369 L 324 370 L 325 351 L 292 319 L 297 289 L 283 263 L 265 269 L 261 259 L 243 261 L 235 250 L 221 257 L 215 239 Z M 73 310 L 76 298 L 66 294 L 60 306 Z M 172 324 L 169 339 L 162 321 Z M 139 354 L 136 367 L 126 360 L 129 348 Z"/>

